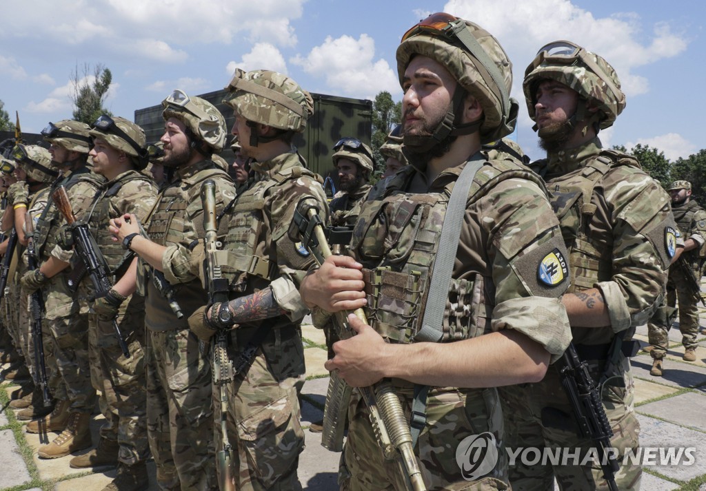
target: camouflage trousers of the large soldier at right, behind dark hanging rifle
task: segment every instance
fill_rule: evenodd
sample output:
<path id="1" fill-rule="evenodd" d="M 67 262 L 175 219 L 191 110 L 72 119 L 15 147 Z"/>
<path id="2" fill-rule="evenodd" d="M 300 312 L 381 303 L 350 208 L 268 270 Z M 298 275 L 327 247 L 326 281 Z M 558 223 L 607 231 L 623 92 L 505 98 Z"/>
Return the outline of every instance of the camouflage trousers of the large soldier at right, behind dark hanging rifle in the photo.
<path id="1" fill-rule="evenodd" d="M 561 362 L 558 362 L 561 363 Z M 603 363 L 590 363 L 591 375 L 596 380 Z M 623 376 L 626 388 L 604 386 L 603 406 L 614 432 L 611 447 L 618 451 L 620 470 L 615 479 L 621 491 L 639 490 L 642 468 L 634 463 L 623 466 L 623 456 L 628 449 L 638 449 L 640 425 L 633 408 L 634 382 L 628 358 L 622 357 L 616 372 Z M 599 464 L 587 455 L 596 448 L 592 440 L 578 436 L 570 403 L 563 391 L 558 370 L 553 365 L 542 382 L 500 387 L 505 413 L 505 445 L 510 459 L 510 485 L 513 491 L 552 490 L 554 478 L 561 490 L 608 490 Z M 568 459 L 567 465 L 523 462 L 520 449 L 568 449 L 569 454 L 580 449 Z M 592 461 L 581 465 L 582 462 Z M 628 462 L 631 462 L 628 459 Z"/>

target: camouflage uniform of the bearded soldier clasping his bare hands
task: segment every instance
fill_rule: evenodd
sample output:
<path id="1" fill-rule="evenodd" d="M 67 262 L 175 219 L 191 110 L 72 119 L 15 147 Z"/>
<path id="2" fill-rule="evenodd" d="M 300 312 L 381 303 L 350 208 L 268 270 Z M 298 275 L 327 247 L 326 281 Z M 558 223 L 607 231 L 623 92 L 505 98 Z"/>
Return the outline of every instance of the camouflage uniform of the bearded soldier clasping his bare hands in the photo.
<path id="1" fill-rule="evenodd" d="M 184 318 L 177 319 L 150 276 L 146 281 L 147 428 L 157 483 L 162 490 L 215 490 L 213 409 L 208 349 L 189 331 L 187 319 L 207 302 L 198 277 L 189 272 L 192 243 L 204 236 L 201 184 L 216 183 L 217 211 L 235 196 L 229 176 L 210 160 L 178 168 L 150 214 L 148 234 L 167 246 L 164 277 L 174 285 Z M 223 233 L 222 235 L 225 235 Z M 140 269 L 140 267 L 138 267 Z"/>

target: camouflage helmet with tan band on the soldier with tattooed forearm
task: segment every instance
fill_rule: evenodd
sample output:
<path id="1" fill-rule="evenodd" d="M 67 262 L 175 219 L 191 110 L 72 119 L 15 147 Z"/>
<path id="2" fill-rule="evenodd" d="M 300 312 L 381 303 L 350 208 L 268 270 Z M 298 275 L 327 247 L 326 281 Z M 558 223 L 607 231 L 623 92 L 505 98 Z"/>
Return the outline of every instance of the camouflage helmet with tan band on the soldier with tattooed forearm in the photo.
<path id="1" fill-rule="evenodd" d="M 238 69 L 225 88 L 223 102 L 247 121 L 301 133 L 313 114 L 311 94 L 282 73 Z"/>

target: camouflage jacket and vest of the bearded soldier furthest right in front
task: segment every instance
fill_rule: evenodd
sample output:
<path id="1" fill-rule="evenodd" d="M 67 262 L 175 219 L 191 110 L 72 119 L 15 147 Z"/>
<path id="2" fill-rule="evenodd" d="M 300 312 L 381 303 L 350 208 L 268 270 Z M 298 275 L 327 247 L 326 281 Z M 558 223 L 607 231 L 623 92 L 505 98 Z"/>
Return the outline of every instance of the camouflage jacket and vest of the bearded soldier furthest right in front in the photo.
<path id="1" fill-rule="evenodd" d="M 602 150 L 598 138 L 551 154 L 532 167 L 543 175 L 569 250 L 571 287 L 598 288 L 611 326 L 572 326 L 576 344 L 605 344 L 644 324 L 664 291 L 676 250 L 669 196 L 634 157 Z"/>

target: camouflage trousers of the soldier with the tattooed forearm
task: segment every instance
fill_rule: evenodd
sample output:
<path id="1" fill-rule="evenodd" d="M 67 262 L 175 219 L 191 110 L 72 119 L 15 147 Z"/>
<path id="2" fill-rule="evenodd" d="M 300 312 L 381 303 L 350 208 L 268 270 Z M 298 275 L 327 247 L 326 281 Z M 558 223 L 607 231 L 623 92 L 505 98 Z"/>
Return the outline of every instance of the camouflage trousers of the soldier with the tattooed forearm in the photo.
<path id="1" fill-rule="evenodd" d="M 237 359 L 237 355 L 231 358 Z M 289 358 L 290 363 L 304 363 L 301 349 L 293 355 L 282 350 L 279 358 L 282 362 Z M 234 382 L 225 384 L 225 414 L 220 386 L 214 385 L 213 438 L 217 451 L 221 451 L 221 418 L 225 417 L 228 439 L 234 449 L 235 489 L 301 490 L 297 467 L 299 454 L 304 450 L 304 432 L 297 394 L 303 385 L 304 375 L 282 379 L 273 374 L 262 351 L 258 351 L 245 376 L 238 375 Z"/>

